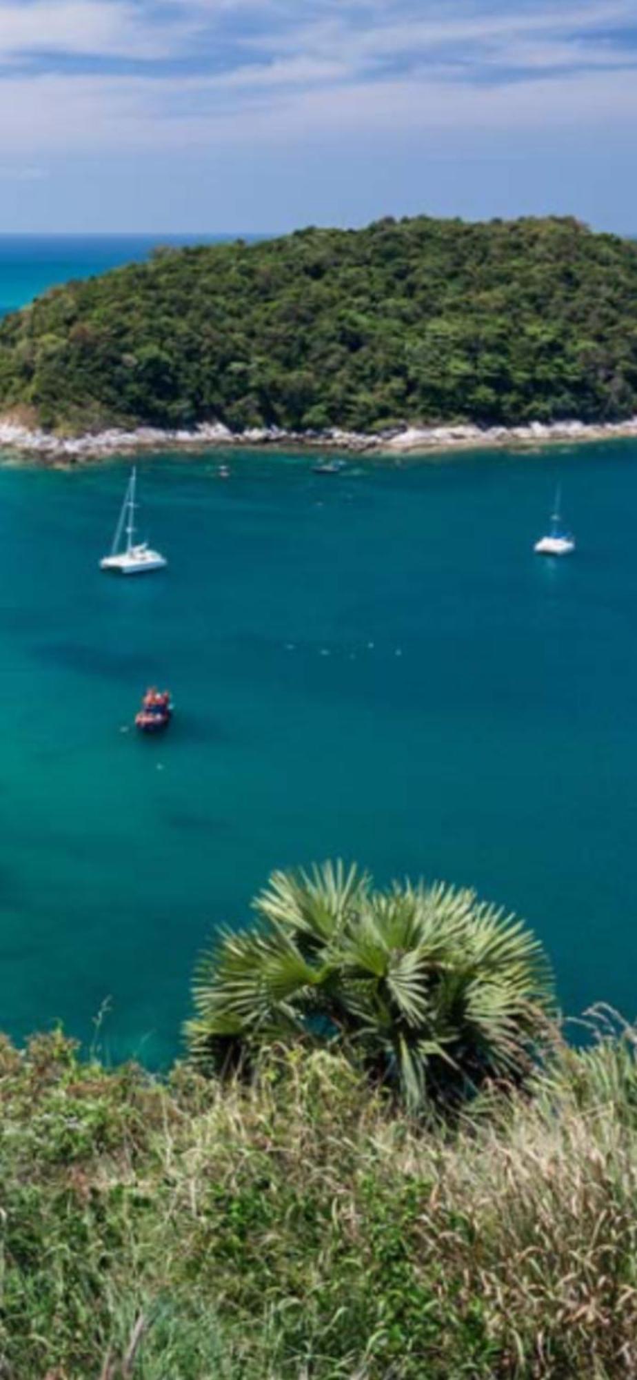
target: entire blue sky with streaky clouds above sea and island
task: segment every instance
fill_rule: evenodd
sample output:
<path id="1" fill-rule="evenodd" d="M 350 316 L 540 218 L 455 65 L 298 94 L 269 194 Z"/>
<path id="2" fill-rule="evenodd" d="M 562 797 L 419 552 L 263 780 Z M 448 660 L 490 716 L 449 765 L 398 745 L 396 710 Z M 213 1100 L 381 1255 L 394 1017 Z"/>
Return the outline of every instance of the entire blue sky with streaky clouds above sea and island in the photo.
<path id="1" fill-rule="evenodd" d="M 0 232 L 637 235 L 637 0 L 0 0 Z"/>

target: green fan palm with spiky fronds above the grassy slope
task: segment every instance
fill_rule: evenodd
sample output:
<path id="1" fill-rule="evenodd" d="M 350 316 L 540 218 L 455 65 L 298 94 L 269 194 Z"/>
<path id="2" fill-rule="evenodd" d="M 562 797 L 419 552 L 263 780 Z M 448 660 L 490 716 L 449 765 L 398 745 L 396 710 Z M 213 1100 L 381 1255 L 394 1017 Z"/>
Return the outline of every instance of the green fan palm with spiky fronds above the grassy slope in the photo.
<path id="1" fill-rule="evenodd" d="M 269 1041 L 332 1039 L 414 1111 L 520 1082 L 549 1024 L 538 940 L 473 891 L 376 891 L 338 862 L 274 872 L 254 929 L 225 933 L 193 983 L 190 1054 L 216 1070 Z"/>

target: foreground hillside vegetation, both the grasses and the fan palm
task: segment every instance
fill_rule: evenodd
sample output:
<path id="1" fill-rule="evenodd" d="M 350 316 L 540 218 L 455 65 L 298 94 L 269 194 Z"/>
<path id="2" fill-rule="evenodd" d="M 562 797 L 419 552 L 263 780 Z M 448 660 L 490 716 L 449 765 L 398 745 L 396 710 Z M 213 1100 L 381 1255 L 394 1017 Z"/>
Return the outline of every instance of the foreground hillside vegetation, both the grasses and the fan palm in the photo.
<path id="1" fill-rule="evenodd" d="M 165 1078 L 0 1038 L 1 1380 L 634 1377 L 634 1029 L 569 1049 L 513 916 L 339 864 L 218 963 Z"/>

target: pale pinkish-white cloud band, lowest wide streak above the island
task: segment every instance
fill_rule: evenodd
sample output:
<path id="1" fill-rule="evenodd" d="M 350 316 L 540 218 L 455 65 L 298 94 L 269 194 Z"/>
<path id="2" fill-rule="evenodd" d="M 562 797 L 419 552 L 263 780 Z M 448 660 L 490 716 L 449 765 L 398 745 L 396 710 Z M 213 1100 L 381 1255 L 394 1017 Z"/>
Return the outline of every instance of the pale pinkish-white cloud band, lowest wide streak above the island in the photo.
<path id="1" fill-rule="evenodd" d="M 603 130 L 637 120 L 633 72 L 540 75 L 510 86 L 469 86 L 429 69 L 374 84 L 234 90 L 201 81 L 41 76 L 0 87 L 0 157 L 267 144 L 307 137 L 477 130 Z M 4 145 L 4 146 L 3 146 Z"/>

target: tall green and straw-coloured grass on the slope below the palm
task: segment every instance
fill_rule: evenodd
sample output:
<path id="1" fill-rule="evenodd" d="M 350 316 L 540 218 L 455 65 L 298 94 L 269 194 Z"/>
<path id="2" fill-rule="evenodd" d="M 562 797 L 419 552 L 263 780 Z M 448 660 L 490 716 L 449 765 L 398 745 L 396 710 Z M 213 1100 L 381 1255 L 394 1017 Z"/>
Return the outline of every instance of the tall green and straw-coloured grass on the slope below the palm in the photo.
<path id="1" fill-rule="evenodd" d="M 342 1058 L 250 1086 L 0 1047 L 0 1374 L 637 1373 L 634 1034 L 422 1130 Z"/>

